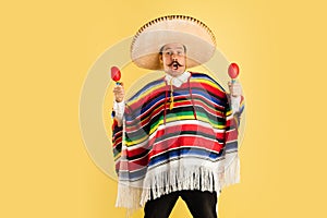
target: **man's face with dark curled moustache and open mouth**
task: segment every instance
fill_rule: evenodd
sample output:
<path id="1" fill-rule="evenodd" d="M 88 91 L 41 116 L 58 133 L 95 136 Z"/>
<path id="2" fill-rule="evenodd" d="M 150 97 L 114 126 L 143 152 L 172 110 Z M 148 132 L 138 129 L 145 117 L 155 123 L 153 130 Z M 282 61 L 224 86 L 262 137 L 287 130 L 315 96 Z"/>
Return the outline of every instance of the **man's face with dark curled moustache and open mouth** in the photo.
<path id="1" fill-rule="evenodd" d="M 160 61 L 164 71 L 171 76 L 179 76 L 186 70 L 186 53 L 182 44 L 167 44 L 161 49 Z"/>

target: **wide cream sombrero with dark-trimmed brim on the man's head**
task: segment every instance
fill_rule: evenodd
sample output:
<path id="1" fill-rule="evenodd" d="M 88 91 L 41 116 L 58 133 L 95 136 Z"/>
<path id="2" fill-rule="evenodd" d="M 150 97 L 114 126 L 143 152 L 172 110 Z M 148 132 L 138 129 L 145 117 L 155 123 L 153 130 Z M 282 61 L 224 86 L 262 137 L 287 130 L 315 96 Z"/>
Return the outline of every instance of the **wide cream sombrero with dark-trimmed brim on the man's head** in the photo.
<path id="1" fill-rule="evenodd" d="M 216 49 L 215 36 L 204 23 L 191 16 L 167 15 L 137 31 L 131 45 L 132 61 L 140 68 L 160 70 L 160 48 L 174 43 L 186 47 L 187 68 L 205 63 Z"/>

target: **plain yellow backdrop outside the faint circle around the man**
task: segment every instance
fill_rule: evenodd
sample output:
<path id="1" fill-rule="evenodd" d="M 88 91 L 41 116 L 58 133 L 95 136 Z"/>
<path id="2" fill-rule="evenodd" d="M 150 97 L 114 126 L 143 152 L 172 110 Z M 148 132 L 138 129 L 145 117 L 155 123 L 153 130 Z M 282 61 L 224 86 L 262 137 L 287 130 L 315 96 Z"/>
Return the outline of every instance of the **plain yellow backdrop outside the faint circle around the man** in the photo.
<path id="1" fill-rule="evenodd" d="M 326 9 L 323 0 L 2 1 L 0 217 L 124 216 L 117 183 L 82 141 L 81 89 L 106 49 L 166 14 L 206 23 L 241 66 L 242 182 L 223 191 L 219 216 L 326 217 Z M 179 202 L 171 217 L 191 216 Z"/>

